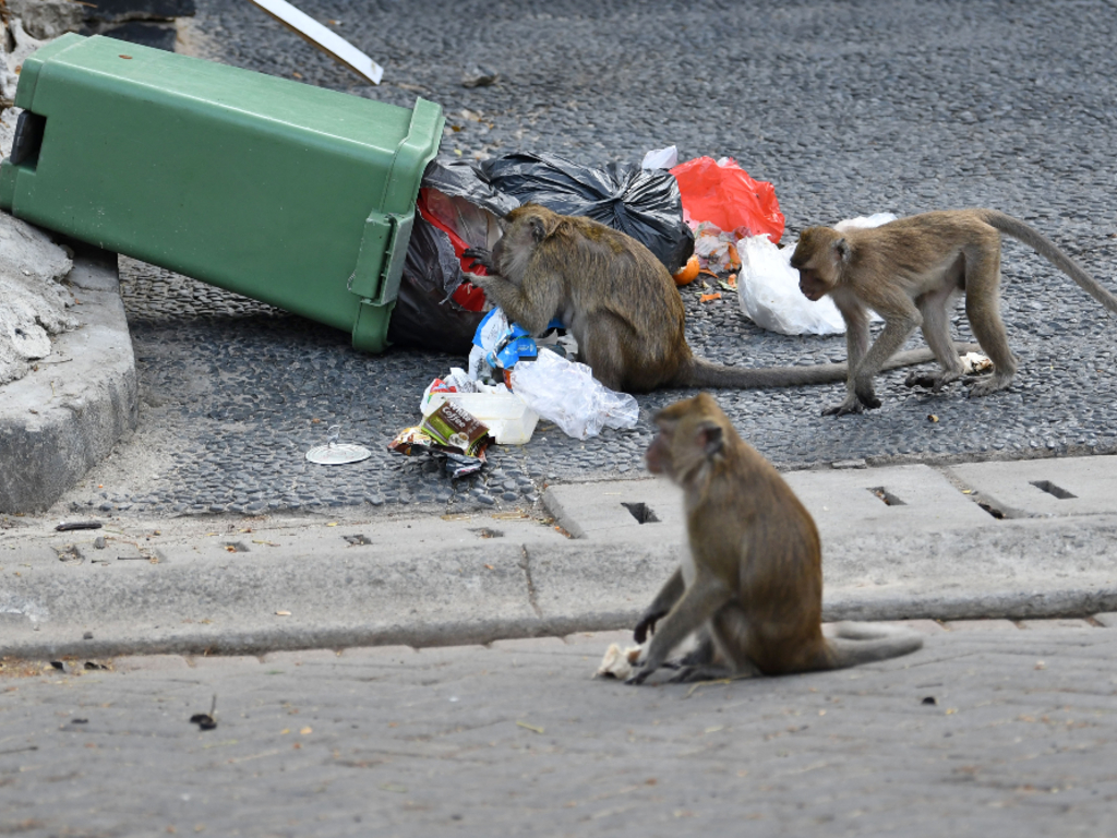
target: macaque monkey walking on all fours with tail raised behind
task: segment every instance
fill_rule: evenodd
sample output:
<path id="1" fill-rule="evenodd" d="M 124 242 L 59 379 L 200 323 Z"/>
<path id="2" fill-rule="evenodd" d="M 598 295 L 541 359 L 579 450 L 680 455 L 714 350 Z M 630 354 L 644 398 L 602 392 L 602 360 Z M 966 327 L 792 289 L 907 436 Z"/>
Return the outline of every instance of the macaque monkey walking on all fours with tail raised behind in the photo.
<path id="1" fill-rule="evenodd" d="M 846 400 L 823 410 L 823 416 L 879 408 L 872 379 L 916 328 L 923 330 L 943 372 L 910 373 L 907 385 L 938 392 L 961 378 L 963 368 L 951 342 L 947 311 L 956 294 L 965 295 L 970 327 L 993 362 L 993 373 L 973 384 L 970 394 L 989 396 L 1009 387 L 1016 360 L 1000 314 L 1002 232 L 1023 241 L 1117 312 L 1117 297 L 1078 263 L 1039 230 L 996 210 L 926 212 L 840 232 L 829 227 L 803 230 L 791 257 L 791 266 L 799 270 L 799 289 L 815 301 L 829 294 L 846 320 Z M 871 347 L 870 308 L 885 318 Z"/>

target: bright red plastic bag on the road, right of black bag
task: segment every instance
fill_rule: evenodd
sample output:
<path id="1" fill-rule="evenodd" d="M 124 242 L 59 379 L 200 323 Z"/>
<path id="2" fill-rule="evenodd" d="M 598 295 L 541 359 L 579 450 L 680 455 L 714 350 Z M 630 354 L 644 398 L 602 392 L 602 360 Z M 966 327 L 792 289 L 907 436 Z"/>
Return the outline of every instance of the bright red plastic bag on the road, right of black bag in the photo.
<path id="1" fill-rule="evenodd" d="M 726 231 L 744 227 L 751 236 L 767 234 L 773 244 L 783 237 L 775 187 L 750 178 L 736 160 L 726 158 L 718 165 L 713 158 L 695 158 L 671 174 L 679 182 L 688 221 L 710 221 Z"/>

